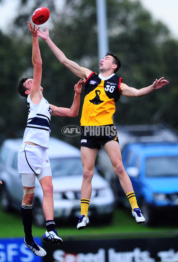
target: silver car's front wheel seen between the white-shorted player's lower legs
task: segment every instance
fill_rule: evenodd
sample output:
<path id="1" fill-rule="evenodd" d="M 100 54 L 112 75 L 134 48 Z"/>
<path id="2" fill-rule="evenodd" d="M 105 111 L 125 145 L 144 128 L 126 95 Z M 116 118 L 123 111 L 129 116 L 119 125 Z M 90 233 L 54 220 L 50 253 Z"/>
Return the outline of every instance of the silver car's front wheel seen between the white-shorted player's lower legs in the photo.
<path id="1" fill-rule="evenodd" d="M 34 199 L 33 204 L 33 220 L 36 226 L 42 227 L 45 226 L 46 220 L 43 213 L 42 205 L 39 199 Z"/>

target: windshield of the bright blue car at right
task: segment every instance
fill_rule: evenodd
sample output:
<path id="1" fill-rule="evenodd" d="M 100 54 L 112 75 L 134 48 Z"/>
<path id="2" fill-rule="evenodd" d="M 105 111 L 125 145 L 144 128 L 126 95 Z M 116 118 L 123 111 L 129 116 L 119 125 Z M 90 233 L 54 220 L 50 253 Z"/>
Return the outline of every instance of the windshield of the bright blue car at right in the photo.
<path id="1" fill-rule="evenodd" d="M 178 156 L 148 157 L 146 159 L 146 176 L 178 176 Z"/>

